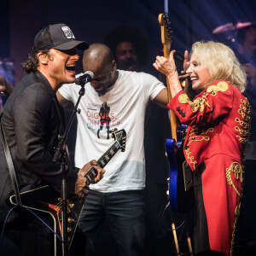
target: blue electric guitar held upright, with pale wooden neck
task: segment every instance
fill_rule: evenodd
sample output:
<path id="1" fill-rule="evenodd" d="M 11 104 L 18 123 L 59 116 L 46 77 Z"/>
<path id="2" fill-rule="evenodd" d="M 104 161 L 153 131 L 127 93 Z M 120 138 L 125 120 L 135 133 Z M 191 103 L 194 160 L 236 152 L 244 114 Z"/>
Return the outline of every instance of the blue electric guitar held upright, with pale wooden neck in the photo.
<path id="1" fill-rule="evenodd" d="M 172 44 L 172 29 L 168 20 L 167 14 L 159 15 L 159 23 L 161 27 L 161 42 L 164 47 L 164 56 L 169 59 L 170 49 Z M 167 82 L 168 99 L 172 100 L 170 84 Z M 184 190 L 183 181 L 183 137 L 187 126 L 180 124 L 175 113 L 170 110 L 172 138 L 166 139 L 166 153 L 170 164 L 170 179 L 169 179 L 169 201 L 173 210 L 185 212 L 189 208 L 187 203 L 189 193 Z"/>

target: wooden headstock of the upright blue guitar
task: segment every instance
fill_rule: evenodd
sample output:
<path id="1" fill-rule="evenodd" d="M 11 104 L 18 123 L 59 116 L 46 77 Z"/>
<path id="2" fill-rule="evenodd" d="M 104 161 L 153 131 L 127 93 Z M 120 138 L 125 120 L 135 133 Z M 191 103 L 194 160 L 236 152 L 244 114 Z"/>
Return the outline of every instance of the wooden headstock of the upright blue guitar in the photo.
<path id="1" fill-rule="evenodd" d="M 161 41 L 162 44 L 166 45 L 166 48 L 171 49 L 172 44 L 172 28 L 171 23 L 169 21 L 168 14 L 160 14 L 158 16 L 158 22 L 161 26 Z"/>

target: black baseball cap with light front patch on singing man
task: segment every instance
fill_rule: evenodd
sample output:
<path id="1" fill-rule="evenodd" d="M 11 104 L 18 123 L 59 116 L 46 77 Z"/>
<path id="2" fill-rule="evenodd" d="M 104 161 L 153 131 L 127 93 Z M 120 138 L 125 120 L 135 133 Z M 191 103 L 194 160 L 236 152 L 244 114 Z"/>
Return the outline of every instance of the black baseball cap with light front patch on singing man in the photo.
<path id="1" fill-rule="evenodd" d="M 38 52 L 44 49 L 88 49 L 85 41 L 77 41 L 72 30 L 63 23 L 45 26 L 34 38 L 33 51 Z"/>

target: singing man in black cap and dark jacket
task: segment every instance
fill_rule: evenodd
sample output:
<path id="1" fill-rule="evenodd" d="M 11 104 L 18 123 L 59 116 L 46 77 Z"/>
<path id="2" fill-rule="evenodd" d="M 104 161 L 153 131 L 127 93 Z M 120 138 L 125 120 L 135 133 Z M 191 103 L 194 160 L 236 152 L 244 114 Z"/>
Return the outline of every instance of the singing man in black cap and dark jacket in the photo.
<path id="1" fill-rule="evenodd" d="M 20 192 L 50 184 L 61 185 L 61 164 L 53 161 L 58 135 L 63 134 L 63 112 L 55 92 L 61 84 L 73 83 L 79 60 L 76 49 L 88 44 L 77 41 L 65 24 L 44 27 L 34 39 L 32 55 L 23 63 L 26 76 L 9 96 L 3 110 L 2 125 L 15 166 Z M 88 194 L 84 173 L 90 166 L 97 172 L 97 182 L 104 172 L 96 161 L 81 169 L 65 166 L 67 193 L 84 197 Z M 14 194 L 9 169 L 0 139 L 0 224 L 3 225 Z M 38 212 L 37 212 L 38 213 Z M 49 229 L 26 210 L 13 212 L 7 220 L 4 235 L 19 245 L 26 255 L 52 255 Z M 5 255 L 0 247 L 0 254 Z M 10 253 L 11 254 L 11 253 Z"/>

